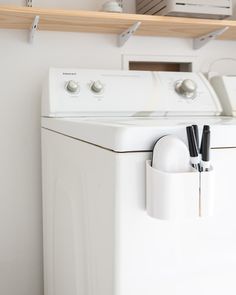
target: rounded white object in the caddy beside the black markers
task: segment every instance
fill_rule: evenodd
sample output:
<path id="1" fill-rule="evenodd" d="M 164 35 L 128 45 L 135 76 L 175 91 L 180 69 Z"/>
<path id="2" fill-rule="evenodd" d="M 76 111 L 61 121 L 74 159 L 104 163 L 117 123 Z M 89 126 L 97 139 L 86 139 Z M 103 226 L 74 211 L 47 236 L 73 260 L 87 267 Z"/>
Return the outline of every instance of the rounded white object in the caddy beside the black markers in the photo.
<path id="1" fill-rule="evenodd" d="M 160 138 L 153 149 L 152 167 L 170 173 L 191 171 L 186 144 L 174 135 Z"/>

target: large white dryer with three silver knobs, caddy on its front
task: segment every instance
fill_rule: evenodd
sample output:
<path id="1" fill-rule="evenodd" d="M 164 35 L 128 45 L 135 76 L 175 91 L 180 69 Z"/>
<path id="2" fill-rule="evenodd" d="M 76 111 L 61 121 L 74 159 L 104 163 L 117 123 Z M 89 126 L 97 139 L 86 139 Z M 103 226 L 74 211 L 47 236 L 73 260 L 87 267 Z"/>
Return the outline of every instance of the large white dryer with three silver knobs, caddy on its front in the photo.
<path id="1" fill-rule="evenodd" d="M 42 103 L 45 295 L 236 294 L 236 120 L 201 74 L 51 69 Z M 211 126 L 213 215 L 150 217 L 153 146 L 193 123 Z"/>

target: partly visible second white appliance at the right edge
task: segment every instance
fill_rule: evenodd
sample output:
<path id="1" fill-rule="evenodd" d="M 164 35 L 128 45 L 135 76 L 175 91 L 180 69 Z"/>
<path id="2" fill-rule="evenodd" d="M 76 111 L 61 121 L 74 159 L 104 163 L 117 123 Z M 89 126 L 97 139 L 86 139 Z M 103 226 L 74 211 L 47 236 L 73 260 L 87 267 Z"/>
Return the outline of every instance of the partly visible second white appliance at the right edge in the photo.
<path id="1" fill-rule="evenodd" d="M 236 77 L 215 76 L 211 78 L 216 93 L 224 108 L 224 115 L 236 116 Z"/>

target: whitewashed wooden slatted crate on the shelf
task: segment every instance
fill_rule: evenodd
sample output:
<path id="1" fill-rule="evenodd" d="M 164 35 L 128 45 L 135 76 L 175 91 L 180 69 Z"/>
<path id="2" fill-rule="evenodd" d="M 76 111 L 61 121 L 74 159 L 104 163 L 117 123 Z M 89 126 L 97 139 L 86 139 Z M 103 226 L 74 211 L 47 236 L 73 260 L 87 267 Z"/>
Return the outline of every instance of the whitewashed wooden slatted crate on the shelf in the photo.
<path id="1" fill-rule="evenodd" d="M 140 14 L 224 19 L 232 15 L 231 0 L 136 0 Z"/>

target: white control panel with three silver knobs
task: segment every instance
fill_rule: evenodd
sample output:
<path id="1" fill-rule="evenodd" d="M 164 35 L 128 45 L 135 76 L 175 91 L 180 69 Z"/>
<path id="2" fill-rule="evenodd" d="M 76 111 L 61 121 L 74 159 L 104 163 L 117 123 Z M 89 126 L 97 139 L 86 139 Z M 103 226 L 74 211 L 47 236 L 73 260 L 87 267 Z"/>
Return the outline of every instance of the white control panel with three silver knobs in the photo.
<path id="1" fill-rule="evenodd" d="M 200 73 L 50 69 L 45 116 L 218 115 L 221 106 Z"/>

